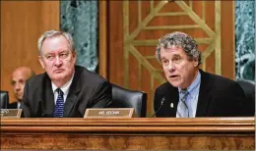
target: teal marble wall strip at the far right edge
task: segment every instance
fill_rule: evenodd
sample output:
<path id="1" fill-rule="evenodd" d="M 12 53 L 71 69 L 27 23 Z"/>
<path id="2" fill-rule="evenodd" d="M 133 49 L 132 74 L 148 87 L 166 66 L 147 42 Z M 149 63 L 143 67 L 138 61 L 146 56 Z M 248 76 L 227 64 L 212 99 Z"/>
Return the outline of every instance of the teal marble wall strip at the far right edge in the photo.
<path id="1" fill-rule="evenodd" d="M 235 1 L 236 78 L 255 79 L 255 1 Z"/>

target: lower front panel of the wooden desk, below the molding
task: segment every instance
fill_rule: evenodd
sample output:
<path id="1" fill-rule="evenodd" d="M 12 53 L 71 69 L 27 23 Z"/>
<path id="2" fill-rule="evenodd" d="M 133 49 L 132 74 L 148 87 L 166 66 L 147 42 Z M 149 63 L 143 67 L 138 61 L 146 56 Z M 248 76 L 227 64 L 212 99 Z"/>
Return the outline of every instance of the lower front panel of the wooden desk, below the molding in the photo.
<path id="1" fill-rule="evenodd" d="M 254 150 L 253 134 L 3 134 L 2 149 Z"/>

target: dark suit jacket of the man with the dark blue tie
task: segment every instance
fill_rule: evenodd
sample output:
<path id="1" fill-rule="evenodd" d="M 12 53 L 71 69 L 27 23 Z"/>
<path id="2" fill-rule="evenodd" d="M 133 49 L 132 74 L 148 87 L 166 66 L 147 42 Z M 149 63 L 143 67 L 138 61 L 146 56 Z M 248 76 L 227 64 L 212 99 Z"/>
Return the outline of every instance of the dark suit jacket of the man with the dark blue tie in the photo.
<path id="1" fill-rule="evenodd" d="M 76 66 L 64 104 L 63 118 L 84 117 L 87 108 L 104 108 L 111 100 L 112 86 L 103 77 Z M 53 117 L 54 94 L 51 80 L 46 73 L 33 76 L 26 82 L 21 104 L 22 117 Z"/>

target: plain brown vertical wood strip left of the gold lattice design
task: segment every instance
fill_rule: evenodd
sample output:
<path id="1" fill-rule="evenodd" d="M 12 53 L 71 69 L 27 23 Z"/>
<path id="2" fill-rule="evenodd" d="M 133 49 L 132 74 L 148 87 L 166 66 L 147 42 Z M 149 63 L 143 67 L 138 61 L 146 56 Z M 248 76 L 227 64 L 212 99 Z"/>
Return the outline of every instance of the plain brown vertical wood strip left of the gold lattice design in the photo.
<path id="1" fill-rule="evenodd" d="M 118 85 L 123 85 L 123 13 L 122 1 L 108 1 L 108 77 Z M 110 74 L 111 73 L 111 74 Z"/>

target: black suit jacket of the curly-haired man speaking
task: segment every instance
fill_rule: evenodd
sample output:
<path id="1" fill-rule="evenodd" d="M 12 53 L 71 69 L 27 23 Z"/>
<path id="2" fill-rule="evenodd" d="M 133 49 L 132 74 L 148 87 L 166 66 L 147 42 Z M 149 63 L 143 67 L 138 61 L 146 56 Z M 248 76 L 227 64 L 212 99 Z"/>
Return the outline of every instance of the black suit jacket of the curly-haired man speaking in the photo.
<path id="1" fill-rule="evenodd" d="M 223 76 L 212 75 L 200 70 L 201 84 L 196 117 L 237 117 L 243 116 L 242 101 L 245 95 L 235 81 Z M 160 108 L 161 99 L 165 103 Z M 176 117 L 179 100 L 178 88 L 169 82 L 161 84 L 155 92 L 154 109 L 160 108 L 157 117 Z M 170 103 L 173 108 L 170 108 Z"/>

